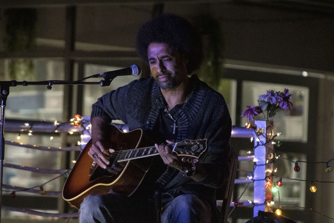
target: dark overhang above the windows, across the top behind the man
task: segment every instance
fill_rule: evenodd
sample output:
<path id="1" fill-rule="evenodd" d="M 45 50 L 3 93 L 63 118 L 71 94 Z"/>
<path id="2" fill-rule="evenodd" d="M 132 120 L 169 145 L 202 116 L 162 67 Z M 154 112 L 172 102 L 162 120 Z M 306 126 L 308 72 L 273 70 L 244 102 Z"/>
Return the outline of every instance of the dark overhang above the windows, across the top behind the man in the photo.
<path id="1" fill-rule="evenodd" d="M 75 52 L 66 54 L 66 7 L 76 9 Z M 334 72 L 334 3 L 331 1 L 106 1 L 2 0 L 0 9 L 37 8 L 39 51 L 2 52 L 4 57 L 70 57 L 112 60 L 137 57 L 138 28 L 159 10 L 195 26 L 210 16 L 220 24 L 223 58 L 233 63 L 269 64 Z M 52 49 L 52 50 L 47 50 Z M 2 51 L 2 50 L 1 50 Z"/>

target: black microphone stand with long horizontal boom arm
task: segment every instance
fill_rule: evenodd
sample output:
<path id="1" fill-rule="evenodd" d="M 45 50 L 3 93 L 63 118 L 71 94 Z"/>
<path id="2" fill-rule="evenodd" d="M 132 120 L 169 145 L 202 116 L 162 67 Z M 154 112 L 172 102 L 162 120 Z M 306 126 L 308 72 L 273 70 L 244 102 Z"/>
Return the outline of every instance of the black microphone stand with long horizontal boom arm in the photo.
<path id="1" fill-rule="evenodd" d="M 4 138 L 4 125 L 5 125 L 5 107 L 7 97 L 9 95 L 9 87 L 16 87 L 17 85 L 28 86 L 28 85 L 47 85 L 46 88 L 51 90 L 52 85 L 85 85 L 85 84 L 96 84 L 100 86 L 109 86 L 112 80 L 117 77 L 117 74 L 107 74 L 104 80 L 100 82 L 83 82 L 88 78 L 98 77 L 92 75 L 85 77 L 77 81 L 62 81 L 62 80 L 47 80 L 47 81 L 0 81 L 0 106 L 1 106 L 1 122 L 0 122 L 0 223 L 1 223 L 1 207 L 2 207 L 2 178 L 3 178 L 3 160 L 5 157 L 5 138 Z"/>

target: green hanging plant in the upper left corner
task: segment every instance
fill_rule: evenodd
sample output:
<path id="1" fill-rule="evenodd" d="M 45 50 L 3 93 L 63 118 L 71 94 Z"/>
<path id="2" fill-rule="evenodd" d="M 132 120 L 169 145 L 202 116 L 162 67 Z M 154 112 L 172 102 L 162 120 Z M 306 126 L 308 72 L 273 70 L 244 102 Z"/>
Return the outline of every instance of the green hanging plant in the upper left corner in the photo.
<path id="1" fill-rule="evenodd" d="M 6 9 L 3 42 L 8 52 L 27 51 L 35 47 L 37 11 L 33 8 Z M 9 76 L 19 79 L 34 76 L 31 59 L 9 59 Z"/>

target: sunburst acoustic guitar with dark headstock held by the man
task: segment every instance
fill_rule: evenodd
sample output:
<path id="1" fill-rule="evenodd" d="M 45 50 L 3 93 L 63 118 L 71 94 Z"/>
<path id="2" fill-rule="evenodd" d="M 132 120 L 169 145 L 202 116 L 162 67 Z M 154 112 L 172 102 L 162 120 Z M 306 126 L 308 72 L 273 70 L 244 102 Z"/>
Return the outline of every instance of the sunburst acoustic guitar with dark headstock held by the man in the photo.
<path id="1" fill-rule="evenodd" d="M 76 160 L 62 191 L 63 199 L 77 209 L 91 194 L 107 194 L 110 190 L 126 196 L 133 194 L 148 171 L 153 156 L 159 154 L 155 146 L 145 145 L 148 140 L 141 129 L 124 133 L 110 125 L 109 132 L 111 148 L 116 152 L 112 154 L 108 167 L 119 165 L 123 169 L 114 174 L 97 165 L 88 155 L 92 147 L 90 140 Z M 198 159 L 206 150 L 206 139 L 183 140 L 171 146 L 178 156 Z"/>

